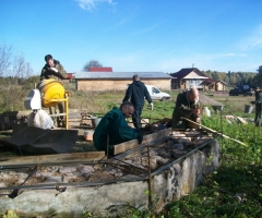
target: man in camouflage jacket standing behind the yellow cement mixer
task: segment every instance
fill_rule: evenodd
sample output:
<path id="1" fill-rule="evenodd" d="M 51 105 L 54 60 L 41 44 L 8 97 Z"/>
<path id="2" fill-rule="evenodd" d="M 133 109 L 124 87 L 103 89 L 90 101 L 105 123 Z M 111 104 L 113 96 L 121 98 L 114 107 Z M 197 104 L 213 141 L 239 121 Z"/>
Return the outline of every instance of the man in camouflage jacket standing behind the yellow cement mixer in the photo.
<path id="1" fill-rule="evenodd" d="M 58 60 L 55 60 L 51 55 L 45 56 L 45 61 L 46 64 L 41 69 L 40 81 L 48 78 L 61 81 L 68 77 L 67 71 L 63 69 L 62 64 Z M 59 109 L 59 113 L 63 113 L 64 112 L 63 102 L 59 102 L 57 106 Z M 49 112 L 50 114 L 55 114 L 56 107 L 50 107 Z M 56 119 L 52 120 L 56 123 Z M 63 116 L 60 116 L 60 118 L 57 119 L 57 125 L 59 128 L 66 126 Z"/>

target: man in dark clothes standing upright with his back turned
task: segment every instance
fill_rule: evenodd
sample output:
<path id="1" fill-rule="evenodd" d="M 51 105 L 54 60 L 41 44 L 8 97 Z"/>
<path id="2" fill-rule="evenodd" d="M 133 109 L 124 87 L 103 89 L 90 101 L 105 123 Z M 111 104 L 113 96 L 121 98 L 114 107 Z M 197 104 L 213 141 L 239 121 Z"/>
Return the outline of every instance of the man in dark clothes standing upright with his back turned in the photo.
<path id="1" fill-rule="evenodd" d="M 134 128 L 136 129 L 141 129 L 142 126 L 140 116 L 144 107 L 144 98 L 148 101 L 148 104 L 151 104 L 151 109 L 153 110 L 154 106 L 153 106 L 153 101 L 151 99 L 150 93 L 146 86 L 144 85 L 144 83 L 140 81 L 139 75 L 135 74 L 133 75 L 133 83 L 129 85 L 122 101 L 124 102 L 130 99 L 130 101 L 133 104 L 134 113 L 133 113 L 132 120 L 133 120 Z"/>

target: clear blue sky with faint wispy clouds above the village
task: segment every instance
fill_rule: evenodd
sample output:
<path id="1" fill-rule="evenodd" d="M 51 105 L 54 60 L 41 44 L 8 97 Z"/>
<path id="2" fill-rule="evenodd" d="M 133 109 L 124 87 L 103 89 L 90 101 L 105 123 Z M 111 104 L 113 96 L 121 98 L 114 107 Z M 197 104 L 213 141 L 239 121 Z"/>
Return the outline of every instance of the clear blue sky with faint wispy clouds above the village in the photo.
<path id="1" fill-rule="evenodd" d="M 261 0 L 0 0 L 0 45 L 39 74 L 45 55 L 68 72 L 98 60 L 116 72 L 257 72 Z"/>

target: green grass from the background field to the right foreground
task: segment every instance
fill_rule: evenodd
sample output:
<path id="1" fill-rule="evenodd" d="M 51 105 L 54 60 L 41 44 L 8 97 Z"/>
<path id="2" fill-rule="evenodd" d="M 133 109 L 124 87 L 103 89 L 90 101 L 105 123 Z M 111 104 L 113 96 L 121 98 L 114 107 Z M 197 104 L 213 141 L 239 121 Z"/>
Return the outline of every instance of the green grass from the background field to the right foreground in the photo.
<path id="1" fill-rule="evenodd" d="M 171 118 L 178 92 L 169 92 L 171 100 L 154 101 L 154 110 L 150 110 L 146 102 L 142 113 L 151 122 L 157 119 Z M 204 93 L 203 93 L 204 94 Z M 124 92 L 79 94 L 78 105 L 91 113 L 104 114 L 114 106 L 119 106 Z M 211 106 L 211 117 L 202 117 L 202 124 L 247 144 L 242 146 L 234 141 L 218 137 L 222 147 L 221 168 L 204 178 L 192 194 L 170 204 L 165 211 L 153 215 L 150 210 L 131 209 L 126 217 L 262 217 L 262 130 L 252 122 L 252 113 L 245 113 L 245 105 L 249 105 L 254 97 L 243 96 L 209 96 L 225 105 L 219 114 L 215 114 Z M 72 95 L 70 105 L 76 99 Z M 74 104 L 73 104 L 74 105 Z M 72 105 L 71 105 L 72 106 Z M 75 105 L 74 105 L 75 107 Z M 245 118 L 248 124 L 233 121 L 229 124 L 225 116 Z M 92 217 L 92 216 L 91 216 Z"/>

